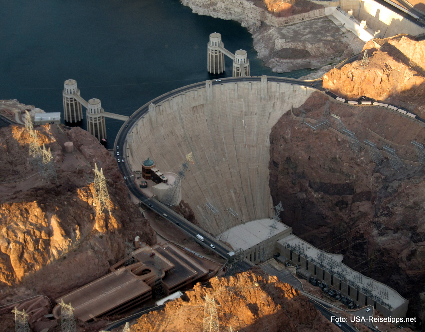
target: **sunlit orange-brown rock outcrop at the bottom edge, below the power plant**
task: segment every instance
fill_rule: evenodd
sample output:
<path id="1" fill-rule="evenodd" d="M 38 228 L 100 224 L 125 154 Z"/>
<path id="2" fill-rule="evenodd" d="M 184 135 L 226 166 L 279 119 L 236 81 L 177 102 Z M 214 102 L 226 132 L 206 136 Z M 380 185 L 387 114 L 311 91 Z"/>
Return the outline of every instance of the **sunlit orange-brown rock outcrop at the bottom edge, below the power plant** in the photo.
<path id="1" fill-rule="evenodd" d="M 213 296 L 218 305 L 220 331 L 230 326 L 241 332 L 256 332 L 266 326 L 270 332 L 338 331 L 298 290 L 261 270 L 215 277 L 207 287 L 197 284 L 181 299 L 168 303 L 164 311 L 144 315 L 131 330 L 202 331 L 206 295 Z"/>

